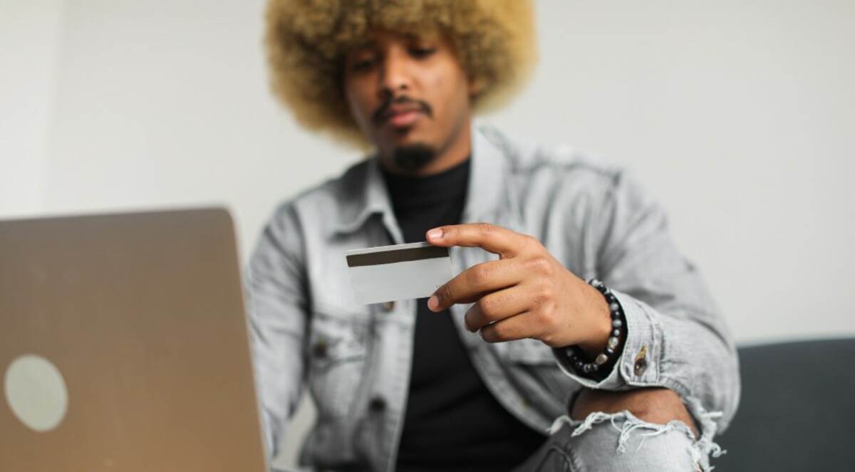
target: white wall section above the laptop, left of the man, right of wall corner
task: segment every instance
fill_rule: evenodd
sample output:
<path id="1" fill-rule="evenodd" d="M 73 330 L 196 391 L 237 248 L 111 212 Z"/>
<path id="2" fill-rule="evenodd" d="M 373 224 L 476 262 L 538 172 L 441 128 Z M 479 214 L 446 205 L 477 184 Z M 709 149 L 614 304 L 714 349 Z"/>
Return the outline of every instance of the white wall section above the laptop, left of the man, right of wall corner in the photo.
<path id="1" fill-rule="evenodd" d="M 269 97 L 261 29 L 261 0 L 67 0 L 44 211 L 226 204 L 246 255 L 346 162 Z"/>

